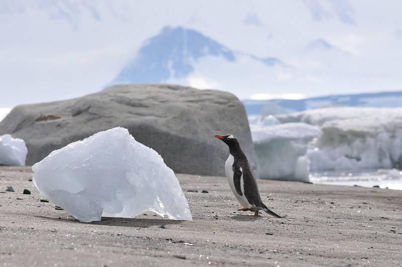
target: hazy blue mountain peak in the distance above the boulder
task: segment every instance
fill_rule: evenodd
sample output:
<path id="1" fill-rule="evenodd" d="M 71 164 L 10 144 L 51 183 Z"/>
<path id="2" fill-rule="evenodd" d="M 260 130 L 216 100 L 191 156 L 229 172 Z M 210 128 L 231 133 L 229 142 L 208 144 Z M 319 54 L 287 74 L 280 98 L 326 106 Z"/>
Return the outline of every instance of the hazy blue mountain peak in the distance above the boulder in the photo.
<path id="1" fill-rule="evenodd" d="M 222 65 L 238 64 L 240 58 L 255 61 L 257 64 L 262 63 L 261 68 L 284 65 L 281 60 L 274 57 L 259 58 L 256 55 L 232 51 L 195 30 L 165 27 L 159 34 L 145 42 L 112 84 L 188 80 L 191 74 L 199 71 L 197 64 L 208 57 L 221 61 Z"/>

